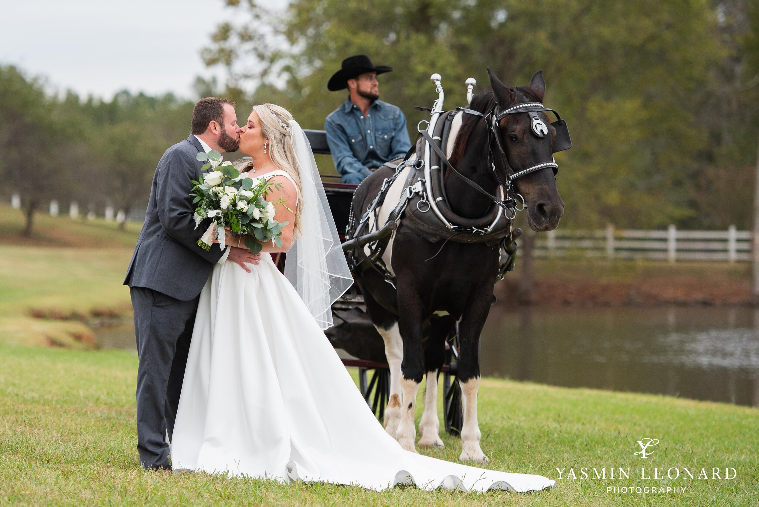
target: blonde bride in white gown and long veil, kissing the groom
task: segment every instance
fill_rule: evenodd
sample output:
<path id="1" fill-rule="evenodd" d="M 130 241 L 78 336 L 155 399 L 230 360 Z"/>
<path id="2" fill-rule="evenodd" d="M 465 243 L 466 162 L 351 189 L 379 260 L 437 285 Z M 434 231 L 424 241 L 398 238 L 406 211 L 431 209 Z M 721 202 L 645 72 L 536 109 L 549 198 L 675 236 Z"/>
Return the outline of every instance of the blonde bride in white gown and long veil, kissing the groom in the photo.
<path id="1" fill-rule="evenodd" d="M 518 492 L 554 481 L 405 451 L 364 402 L 323 333 L 353 280 L 310 145 L 290 113 L 256 105 L 240 135 L 243 171 L 279 184 L 282 247 L 257 266 L 219 264 L 200 294 L 172 442 L 172 467 L 231 476 Z M 287 206 L 285 208 L 285 206 Z M 289 208 L 289 209 L 288 209 Z M 229 233 L 227 244 L 240 238 Z M 270 253 L 288 252 L 285 276 Z"/>

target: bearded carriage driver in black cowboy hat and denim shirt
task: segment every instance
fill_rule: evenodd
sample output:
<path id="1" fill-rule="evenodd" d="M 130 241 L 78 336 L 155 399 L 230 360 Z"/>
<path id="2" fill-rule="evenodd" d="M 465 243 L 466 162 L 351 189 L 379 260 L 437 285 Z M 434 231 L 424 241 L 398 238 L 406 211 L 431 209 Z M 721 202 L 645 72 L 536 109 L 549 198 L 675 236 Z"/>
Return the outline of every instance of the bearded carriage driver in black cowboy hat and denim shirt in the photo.
<path id="1" fill-rule="evenodd" d="M 324 121 L 341 183 L 359 184 L 373 169 L 404 156 L 411 148 L 403 112 L 379 100 L 377 75 L 390 71 L 385 65 L 373 66 L 366 55 L 355 55 L 345 58 L 342 68 L 329 79 L 329 91 L 348 88 L 349 93 Z"/>

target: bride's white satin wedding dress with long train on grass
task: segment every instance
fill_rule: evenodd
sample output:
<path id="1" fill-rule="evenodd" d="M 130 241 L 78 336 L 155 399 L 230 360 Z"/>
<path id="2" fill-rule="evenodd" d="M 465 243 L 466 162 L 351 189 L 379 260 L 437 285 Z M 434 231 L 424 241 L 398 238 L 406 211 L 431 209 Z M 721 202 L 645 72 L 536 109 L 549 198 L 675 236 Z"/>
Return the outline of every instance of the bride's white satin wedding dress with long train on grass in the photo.
<path id="1" fill-rule="evenodd" d="M 553 486 L 540 475 L 402 449 L 269 253 L 250 267 L 248 273 L 237 263 L 217 265 L 200 293 L 173 468 L 378 491 L 399 483 L 477 492 Z"/>

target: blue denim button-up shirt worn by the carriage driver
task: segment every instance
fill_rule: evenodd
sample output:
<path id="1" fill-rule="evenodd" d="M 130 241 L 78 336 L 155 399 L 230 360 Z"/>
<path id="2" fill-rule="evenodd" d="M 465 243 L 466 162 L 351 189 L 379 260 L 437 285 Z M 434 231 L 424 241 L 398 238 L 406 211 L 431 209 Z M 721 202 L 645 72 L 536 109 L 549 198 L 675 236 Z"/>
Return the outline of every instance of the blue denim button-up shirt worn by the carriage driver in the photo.
<path id="1" fill-rule="evenodd" d="M 324 121 L 327 144 L 344 183 L 357 183 L 411 148 L 406 117 L 395 105 L 376 100 L 367 117 L 348 98 Z"/>

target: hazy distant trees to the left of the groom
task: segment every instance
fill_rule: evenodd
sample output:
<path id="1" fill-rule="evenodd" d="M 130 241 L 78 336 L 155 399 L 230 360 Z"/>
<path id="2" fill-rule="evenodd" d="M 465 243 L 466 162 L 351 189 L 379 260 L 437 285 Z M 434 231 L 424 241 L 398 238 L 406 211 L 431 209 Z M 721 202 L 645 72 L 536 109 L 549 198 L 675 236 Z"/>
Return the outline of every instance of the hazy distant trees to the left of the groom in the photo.
<path id="1" fill-rule="evenodd" d="M 144 208 L 156 164 L 187 137 L 193 102 L 127 91 L 109 101 L 49 90 L 41 77 L 0 66 L 3 197 L 18 194 L 30 235 L 50 200 L 85 213 Z M 121 224 L 123 226 L 123 223 Z"/>

